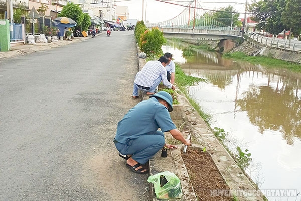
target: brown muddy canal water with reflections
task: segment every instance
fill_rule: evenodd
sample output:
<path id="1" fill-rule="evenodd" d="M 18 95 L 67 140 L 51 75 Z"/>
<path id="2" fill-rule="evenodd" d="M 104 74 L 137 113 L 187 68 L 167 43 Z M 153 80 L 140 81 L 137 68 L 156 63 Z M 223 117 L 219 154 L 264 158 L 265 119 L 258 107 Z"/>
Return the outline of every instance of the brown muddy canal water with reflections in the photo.
<path id="1" fill-rule="evenodd" d="M 188 88 L 210 125 L 229 133 L 226 144 L 248 149 L 253 159 L 246 172 L 269 200 L 301 200 L 301 73 L 266 69 L 225 60 L 215 52 L 194 51 L 168 42 L 163 52 L 188 75 L 207 80 Z"/>

